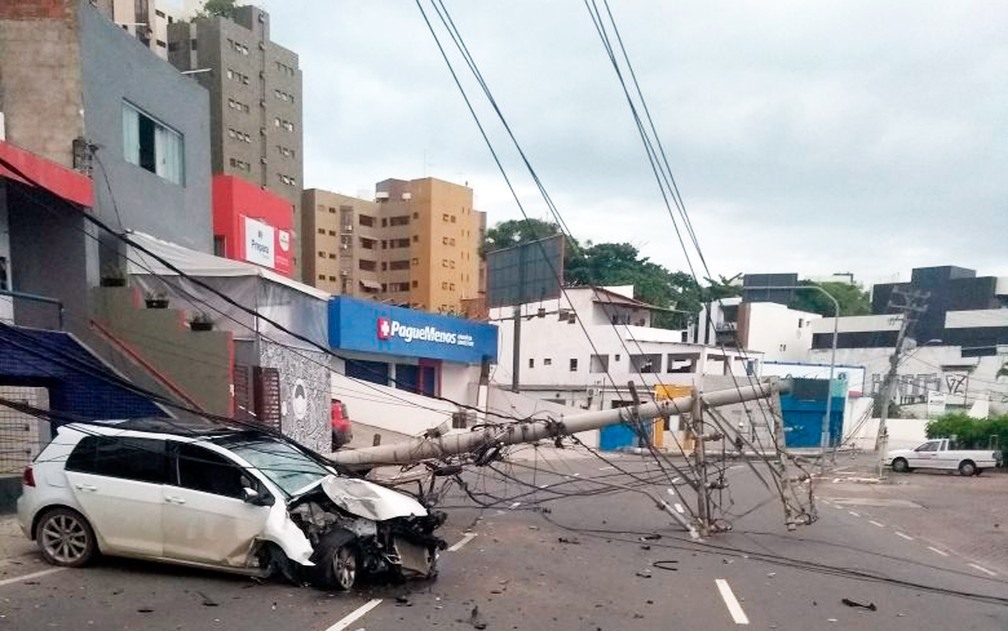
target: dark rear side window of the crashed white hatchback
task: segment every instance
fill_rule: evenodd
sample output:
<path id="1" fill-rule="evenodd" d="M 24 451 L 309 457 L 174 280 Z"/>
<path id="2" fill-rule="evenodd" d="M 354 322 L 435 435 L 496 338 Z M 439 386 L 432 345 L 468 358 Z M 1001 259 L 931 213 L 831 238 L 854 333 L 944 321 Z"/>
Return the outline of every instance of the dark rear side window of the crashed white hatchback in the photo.
<path id="1" fill-rule="evenodd" d="M 67 470 L 164 484 L 168 480 L 168 457 L 164 440 L 85 436 L 67 459 Z"/>

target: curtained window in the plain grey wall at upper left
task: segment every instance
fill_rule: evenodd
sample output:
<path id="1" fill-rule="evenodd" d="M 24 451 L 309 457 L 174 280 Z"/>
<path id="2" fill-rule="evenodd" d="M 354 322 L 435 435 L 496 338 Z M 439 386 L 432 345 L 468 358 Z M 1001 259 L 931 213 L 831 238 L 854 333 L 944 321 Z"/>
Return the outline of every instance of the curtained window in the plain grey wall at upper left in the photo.
<path id="1" fill-rule="evenodd" d="M 177 131 L 123 102 L 123 157 L 175 183 L 184 183 L 184 144 Z"/>

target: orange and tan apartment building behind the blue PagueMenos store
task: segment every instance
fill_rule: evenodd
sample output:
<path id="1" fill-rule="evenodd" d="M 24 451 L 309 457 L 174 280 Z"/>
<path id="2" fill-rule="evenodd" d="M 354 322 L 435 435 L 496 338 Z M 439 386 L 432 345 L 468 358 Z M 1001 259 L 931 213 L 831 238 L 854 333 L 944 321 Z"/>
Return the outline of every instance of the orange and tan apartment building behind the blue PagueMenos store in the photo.
<path id="1" fill-rule="evenodd" d="M 479 296 L 486 216 L 473 210 L 472 188 L 386 179 L 374 202 L 310 188 L 302 208 L 306 282 L 442 313 Z"/>

